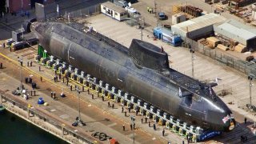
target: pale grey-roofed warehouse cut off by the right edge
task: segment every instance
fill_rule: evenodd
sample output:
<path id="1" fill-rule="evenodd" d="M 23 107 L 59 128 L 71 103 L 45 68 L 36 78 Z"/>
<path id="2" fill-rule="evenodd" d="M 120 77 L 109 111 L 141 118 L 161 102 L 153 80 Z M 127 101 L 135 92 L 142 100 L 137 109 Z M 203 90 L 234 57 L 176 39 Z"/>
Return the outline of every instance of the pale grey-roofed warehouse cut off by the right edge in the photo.
<path id="1" fill-rule="evenodd" d="M 239 42 L 247 48 L 256 49 L 256 30 L 233 19 L 214 25 L 216 35 Z"/>

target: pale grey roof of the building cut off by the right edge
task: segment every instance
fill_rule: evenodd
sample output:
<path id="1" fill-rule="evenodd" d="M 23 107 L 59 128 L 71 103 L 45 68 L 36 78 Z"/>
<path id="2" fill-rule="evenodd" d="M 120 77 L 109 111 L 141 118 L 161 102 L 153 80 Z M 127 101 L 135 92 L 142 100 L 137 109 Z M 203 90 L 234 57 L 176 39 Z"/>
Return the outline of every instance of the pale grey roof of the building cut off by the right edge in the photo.
<path id="1" fill-rule="evenodd" d="M 226 22 L 216 24 L 215 26 L 218 26 L 218 29 L 220 30 L 224 30 L 245 40 L 256 38 L 256 30 L 253 27 L 246 26 L 234 19 L 229 19 Z"/>

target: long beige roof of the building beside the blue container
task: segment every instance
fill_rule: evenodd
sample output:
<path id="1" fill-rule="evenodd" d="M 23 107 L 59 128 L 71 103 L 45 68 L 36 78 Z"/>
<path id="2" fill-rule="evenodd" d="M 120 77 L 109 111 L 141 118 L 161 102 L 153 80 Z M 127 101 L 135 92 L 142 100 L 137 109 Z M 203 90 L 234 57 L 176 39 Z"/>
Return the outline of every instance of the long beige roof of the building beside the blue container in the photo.
<path id="1" fill-rule="evenodd" d="M 226 18 L 222 17 L 221 15 L 210 13 L 198 18 L 190 19 L 186 22 L 178 23 L 172 27 L 178 28 L 183 32 L 194 31 L 218 22 L 223 22 L 225 20 Z"/>

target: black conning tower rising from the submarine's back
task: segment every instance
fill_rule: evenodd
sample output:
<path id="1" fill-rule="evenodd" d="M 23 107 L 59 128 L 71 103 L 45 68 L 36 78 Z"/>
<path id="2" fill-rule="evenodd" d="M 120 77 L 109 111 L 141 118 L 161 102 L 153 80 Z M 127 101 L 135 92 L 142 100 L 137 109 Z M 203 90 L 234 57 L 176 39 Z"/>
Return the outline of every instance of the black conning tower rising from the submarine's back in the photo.
<path id="1" fill-rule="evenodd" d="M 168 54 L 149 42 L 133 39 L 130 44 L 129 55 L 137 66 L 159 71 L 169 68 Z"/>

